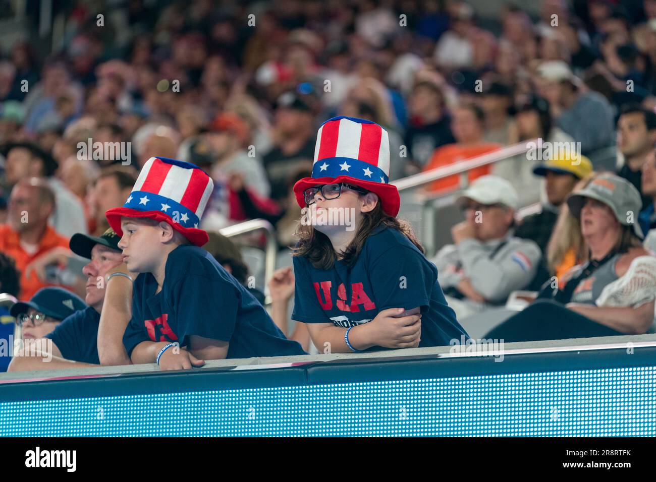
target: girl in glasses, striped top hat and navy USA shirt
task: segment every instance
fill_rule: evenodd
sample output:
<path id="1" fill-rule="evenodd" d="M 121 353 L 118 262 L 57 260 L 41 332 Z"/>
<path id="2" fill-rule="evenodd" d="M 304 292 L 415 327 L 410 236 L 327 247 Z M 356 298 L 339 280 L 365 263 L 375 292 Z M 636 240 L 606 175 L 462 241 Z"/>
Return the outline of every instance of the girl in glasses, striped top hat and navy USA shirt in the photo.
<path id="1" fill-rule="evenodd" d="M 312 176 L 294 186 L 302 207 L 294 250 L 292 318 L 324 353 L 460 343 L 466 332 L 447 305 L 437 268 L 388 184 L 387 132 L 335 117 L 321 125 Z"/>

